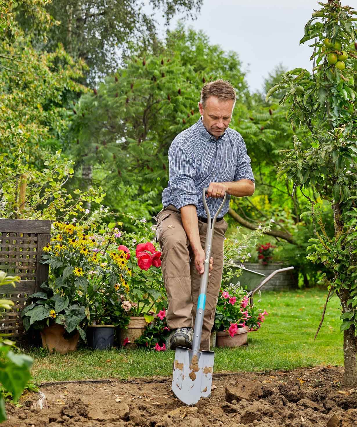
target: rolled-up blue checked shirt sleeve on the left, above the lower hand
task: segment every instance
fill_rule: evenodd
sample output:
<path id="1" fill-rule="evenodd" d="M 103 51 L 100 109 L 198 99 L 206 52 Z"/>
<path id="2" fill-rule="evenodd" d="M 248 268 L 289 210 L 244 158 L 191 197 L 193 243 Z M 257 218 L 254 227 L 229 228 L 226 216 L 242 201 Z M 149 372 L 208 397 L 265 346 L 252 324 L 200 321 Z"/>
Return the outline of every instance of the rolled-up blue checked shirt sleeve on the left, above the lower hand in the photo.
<path id="1" fill-rule="evenodd" d="M 171 144 L 168 150 L 168 164 L 170 186 L 174 196 L 174 205 L 177 209 L 186 205 L 195 205 L 198 200 L 198 191 L 194 184 L 196 173 L 193 153 L 179 144 Z"/>

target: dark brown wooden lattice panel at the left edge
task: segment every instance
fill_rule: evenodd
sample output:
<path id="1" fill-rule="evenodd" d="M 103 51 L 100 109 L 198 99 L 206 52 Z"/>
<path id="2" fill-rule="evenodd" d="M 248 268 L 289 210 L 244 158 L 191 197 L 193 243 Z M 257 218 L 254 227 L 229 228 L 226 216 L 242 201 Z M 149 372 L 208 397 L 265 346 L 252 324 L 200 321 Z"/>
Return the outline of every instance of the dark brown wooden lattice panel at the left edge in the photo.
<path id="1" fill-rule="evenodd" d="M 0 333 L 27 344 L 29 337 L 20 319 L 26 299 L 48 279 L 48 265 L 41 264 L 42 248 L 50 242 L 51 222 L 35 219 L 0 219 L 0 270 L 20 276 L 16 287 L 0 287 L 0 298 L 14 301 L 10 310 L 0 309 Z"/>

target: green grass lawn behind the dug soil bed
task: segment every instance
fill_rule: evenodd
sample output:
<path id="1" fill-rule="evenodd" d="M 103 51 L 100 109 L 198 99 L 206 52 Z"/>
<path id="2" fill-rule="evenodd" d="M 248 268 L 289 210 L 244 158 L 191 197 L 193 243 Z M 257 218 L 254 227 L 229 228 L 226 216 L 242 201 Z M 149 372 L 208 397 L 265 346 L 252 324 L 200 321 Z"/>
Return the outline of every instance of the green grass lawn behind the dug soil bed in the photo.
<path id="1" fill-rule="evenodd" d="M 215 372 L 294 369 L 320 364 L 342 365 L 340 301 L 333 297 L 314 342 L 326 291 L 263 292 L 259 306 L 269 313 L 261 329 L 248 334 L 248 345 L 215 349 Z M 255 301 L 258 300 L 258 296 Z M 80 349 L 42 357 L 36 349 L 32 375 L 38 383 L 99 378 L 129 378 L 172 373 L 173 351 Z"/>

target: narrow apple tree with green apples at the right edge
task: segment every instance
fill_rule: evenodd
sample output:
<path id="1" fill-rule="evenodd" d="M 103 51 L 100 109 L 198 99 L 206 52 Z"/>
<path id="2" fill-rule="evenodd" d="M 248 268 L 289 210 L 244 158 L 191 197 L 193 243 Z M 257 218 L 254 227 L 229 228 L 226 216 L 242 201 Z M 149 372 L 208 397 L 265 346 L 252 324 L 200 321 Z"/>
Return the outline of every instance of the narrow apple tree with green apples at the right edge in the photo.
<path id="1" fill-rule="evenodd" d="M 305 35 L 300 40 L 302 44 L 315 39 L 311 44 L 314 48 L 311 58 L 316 59 L 317 64 L 313 74 L 302 68 L 288 71 L 268 91 L 267 98 L 275 91 L 284 89 L 286 94 L 281 103 L 289 105 L 287 120 L 309 131 L 308 138 L 300 140 L 295 136 L 293 147 L 284 150 L 280 175 L 286 173 L 294 183 L 293 190 L 299 187 L 311 204 L 310 215 L 316 238 L 310 239 L 308 259 L 313 263 L 324 263 L 333 272 L 332 278 L 324 274 L 322 282 L 328 287 L 328 298 L 336 292 L 341 301 L 345 383 L 355 387 L 357 44 L 354 40 L 357 31 L 354 22 L 357 18 L 353 18 L 353 15 L 357 15 L 357 12 L 349 6 L 342 6 L 337 0 L 319 4 L 322 8 L 312 14 L 305 25 Z M 331 206 L 333 235 L 325 230 L 321 204 L 306 194 L 309 188 Z"/>

